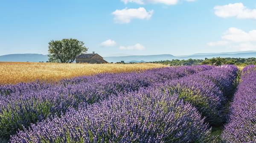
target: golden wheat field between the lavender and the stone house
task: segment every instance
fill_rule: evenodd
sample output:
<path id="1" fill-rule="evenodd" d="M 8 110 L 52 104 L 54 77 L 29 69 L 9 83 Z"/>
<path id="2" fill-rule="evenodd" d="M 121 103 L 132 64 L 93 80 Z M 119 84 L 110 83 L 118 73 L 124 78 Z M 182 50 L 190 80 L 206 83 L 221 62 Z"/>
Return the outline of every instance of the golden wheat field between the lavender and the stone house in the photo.
<path id="1" fill-rule="evenodd" d="M 162 64 L 61 64 L 32 62 L 0 62 L 0 84 L 58 81 L 97 73 L 122 73 L 164 67 Z"/>

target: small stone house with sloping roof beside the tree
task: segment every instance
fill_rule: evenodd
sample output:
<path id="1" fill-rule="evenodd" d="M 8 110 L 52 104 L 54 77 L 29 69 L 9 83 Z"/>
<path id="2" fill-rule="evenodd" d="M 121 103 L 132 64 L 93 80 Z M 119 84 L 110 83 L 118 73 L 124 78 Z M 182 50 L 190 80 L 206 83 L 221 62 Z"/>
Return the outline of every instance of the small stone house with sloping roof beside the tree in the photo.
<path id="1" fill-rule="evenodd" d="M 76 63 L 89 63 L 89 64 L 104 64 L 108 63 L 103 59 L 102 56 L 93 52 L 93 53 L 82 53 L 76 57 Z"/>

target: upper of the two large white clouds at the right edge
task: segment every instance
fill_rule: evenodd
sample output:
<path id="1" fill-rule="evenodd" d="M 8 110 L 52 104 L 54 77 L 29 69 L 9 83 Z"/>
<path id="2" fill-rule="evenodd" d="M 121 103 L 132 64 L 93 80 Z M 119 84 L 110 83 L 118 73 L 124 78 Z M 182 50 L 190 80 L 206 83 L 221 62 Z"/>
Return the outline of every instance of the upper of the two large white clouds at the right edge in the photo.
<path id="1" fill-rule="evenodd" d="M 256 19 L 256 9 L 250 9 L 243 3 L 230 3 L 224 6 L 215 6 L 215 14 L 218 17 L 236 17 L 239 19 Z"/>

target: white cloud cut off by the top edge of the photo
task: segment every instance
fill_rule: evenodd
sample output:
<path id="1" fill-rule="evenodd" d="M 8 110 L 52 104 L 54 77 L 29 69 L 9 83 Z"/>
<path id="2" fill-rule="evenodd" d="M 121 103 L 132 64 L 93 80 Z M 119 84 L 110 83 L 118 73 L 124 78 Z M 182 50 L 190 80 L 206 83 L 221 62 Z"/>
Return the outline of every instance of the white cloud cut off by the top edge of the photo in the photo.
<path id="1" fill-rule="evenodd" d="M 179 0 L 121 0 L 125 4 L 127 3 L 137 3 L 137 4 L 146 4 L 146 3 L 162 3 L 165 5 L 175 5 L 178 3 Z M 196 0 L 182 0 L 182 1 L 187 1 L 187 2 L 194 2 Z"/>

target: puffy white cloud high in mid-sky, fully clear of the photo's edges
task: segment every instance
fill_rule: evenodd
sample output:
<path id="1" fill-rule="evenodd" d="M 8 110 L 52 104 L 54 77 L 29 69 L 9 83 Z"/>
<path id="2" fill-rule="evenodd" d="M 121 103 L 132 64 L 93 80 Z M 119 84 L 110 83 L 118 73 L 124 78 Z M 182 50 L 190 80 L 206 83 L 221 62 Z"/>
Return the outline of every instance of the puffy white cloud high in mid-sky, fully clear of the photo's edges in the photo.
<path id="1" fill-rule="evenodd" d="M 147 11 L 145 8 L 125 8 L 116 10 L 112 14 L 115 16 L 114 20 L 117 23 L 129 23 L 132 19 L 149 20 L 154 13 L 153 10 Z"/>

